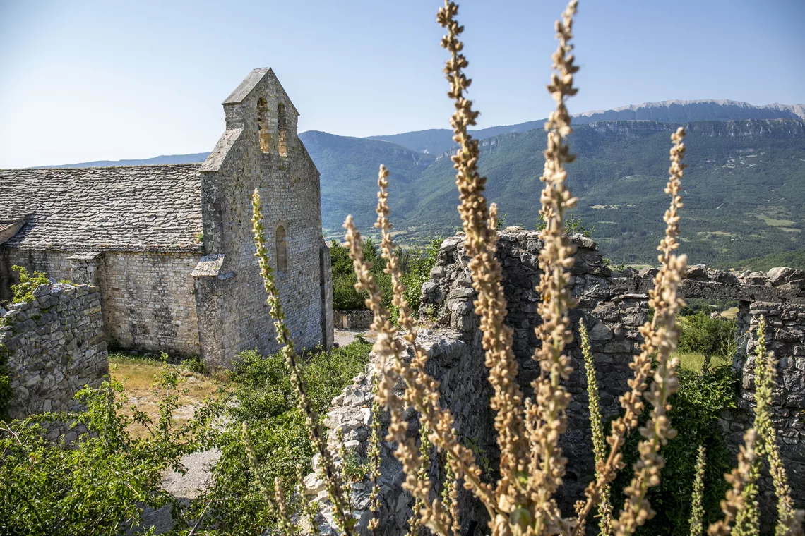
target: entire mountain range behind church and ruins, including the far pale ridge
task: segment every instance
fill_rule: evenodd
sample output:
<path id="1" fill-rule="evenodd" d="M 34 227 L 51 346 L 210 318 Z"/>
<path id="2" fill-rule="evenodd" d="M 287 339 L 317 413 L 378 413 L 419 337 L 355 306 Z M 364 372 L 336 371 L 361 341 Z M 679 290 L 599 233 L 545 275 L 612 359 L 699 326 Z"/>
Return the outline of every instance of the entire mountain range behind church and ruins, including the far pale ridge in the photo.
<path id="1" fill-rule="evenodd" d="M 602 117 L 620 121 L 593 121 Z M 760 118 L 729 119 L 757 115 Z M 683 244 L 691 262 L 731 264 L 805 249 L 803 106 L 751 106 L 726 100 L 667 101 L 574 118 L 568 166 L 580 217 L 615 262 L 654 263 L 663 231 L 671 131 L 686 126 Z M 643 120 L 659 117 L 667 121 Z M 766 118 L 766 116 L 783 116 Z M 792 117 L 793 116 L 793 117 Z M 700 121 L 709 117 L 708 121 Z M 716 119 L 712 119 L 712 118 Z M 675 121 L 673 118 L 680 118 Z M 535 227 L 543 170 L 543 121 L 480 129 L 479 170 L 506 224 Z M 459 226 L 448 130 L 358 138 L 299 134 L 321 173 L 324 234 L 341 237 L 352 214 L 372 235 L 378 166 L 391 171 L 390 206 L 403 243 L 449 235 Z M 374 139 L 382 138 L 382 139 Z M 423 152 L 423 151 L 427 151 Z M 78 166 L 201 162 L 206 153 Z M 779 257 L 787 258 L 787 257 Z M 748 262 L 748 261 L 747 261 Z M 749 265 L 749 264 L 747 264 Z"/>

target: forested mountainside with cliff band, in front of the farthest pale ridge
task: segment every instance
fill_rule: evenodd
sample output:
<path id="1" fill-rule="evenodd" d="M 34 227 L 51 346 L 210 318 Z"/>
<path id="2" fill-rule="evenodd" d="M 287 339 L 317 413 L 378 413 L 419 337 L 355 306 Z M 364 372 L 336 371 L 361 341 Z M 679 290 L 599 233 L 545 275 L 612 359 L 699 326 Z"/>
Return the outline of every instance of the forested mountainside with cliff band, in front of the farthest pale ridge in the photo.
<path id="1" fill-rule="evenodd" d="M 656 262 L 668 203 L 663 187 L 670 135 L 677 126 L 598 121 L 577 125 L 572 133 L 577 158 L 568 166 L 568 176 L 580 198 L 574 216 L 595 227 L 593 238 L 616 262 Z M 683 181 L 681 251 L 691 262 L 737 265 L 805 248 L 805 121 L 696 121 L 687 123 L 687 131 L 685 160 L 690 168 Z M 488 178 L 489 200 L 506 215 L 506 224 L 535 227 L 545 142 L 543 129 L 481 140 L 479 170 Z M 346 198 L 365 196 L 365 202 L 350 210 L 366 222 L 361 230 L 371 234 L 374 203 L 362 190 L 371 186 L 374 173 L 368 170 L 382 162 L 381 155 L 372 155 L 368 177 L 361 179 L 365 182 L 344 182 L 316 152 L 311 154 L 321 171 L 323 192 L 326 187 Z M 421 173 L 413 176 L 417 170 Z M 454 181 L 452 162 L 444 155 L 430 166 L 409 168 L 405 182 L 392 181 L 403 196 L 392 215 L 401 231 L 398 239 L 417 242 L 452 234 L 460 225 Z M 392 203 L 394 195 L 392 191 Z M 338 221 L 346 212 L 329 217 Z M 340 229 L 335 231 L 333 236 L 341 235 Z"/>

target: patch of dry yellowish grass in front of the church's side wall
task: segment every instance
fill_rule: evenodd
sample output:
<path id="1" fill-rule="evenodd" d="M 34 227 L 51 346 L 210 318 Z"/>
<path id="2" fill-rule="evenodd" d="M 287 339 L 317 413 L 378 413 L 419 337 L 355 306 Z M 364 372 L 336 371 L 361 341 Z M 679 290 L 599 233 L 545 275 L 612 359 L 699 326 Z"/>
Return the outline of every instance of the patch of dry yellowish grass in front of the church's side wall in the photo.
<path id="1" fill-rule="evenodd" d="M 226 377 L 223 375 L 213 378 L 191 372 L 180 365 L 163 365 L 163 363 L 151 359 L 132 358 L 125 354 L 110 354 L 109 373 L 112 378 L 123 383 L 123 392 L 129 399 L 127 407 L 123 410 L 124 415 L 130 417 L 133 414 L 131 406 L 134 405 L 139 411 L 145 411 L 152 420 L 159 419 L 159 396 L 155 393 L 153 385 L 163 366 L 176 370 L 180 375 L 179 403 L 181 407 L 175 411 L 175 424 L 185 423 L 192 419 L 196 406 L 204 399 L 216 395 L 219 388 L 226 383 Z M 132 435 L 137 437 L 146 436 L 148 433 L 147 428 L 136 423 L 132 423 L 129 430 Z"/>

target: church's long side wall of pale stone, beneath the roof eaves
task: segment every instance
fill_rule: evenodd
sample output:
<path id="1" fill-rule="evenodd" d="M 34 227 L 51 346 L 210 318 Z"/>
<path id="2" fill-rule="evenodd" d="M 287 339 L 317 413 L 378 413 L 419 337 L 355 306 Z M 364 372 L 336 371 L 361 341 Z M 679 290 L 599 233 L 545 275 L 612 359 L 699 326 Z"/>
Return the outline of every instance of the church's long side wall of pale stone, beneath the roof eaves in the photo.
<path id="1" fill-rule="evenodd" d="M 101 288 L 109 341 L 126 349 L 199 354 L 199 325 L 192 252 L 73 253 L 10 250 L 7 266 L 19 264 L 55 280 L 97 284 Z"/>

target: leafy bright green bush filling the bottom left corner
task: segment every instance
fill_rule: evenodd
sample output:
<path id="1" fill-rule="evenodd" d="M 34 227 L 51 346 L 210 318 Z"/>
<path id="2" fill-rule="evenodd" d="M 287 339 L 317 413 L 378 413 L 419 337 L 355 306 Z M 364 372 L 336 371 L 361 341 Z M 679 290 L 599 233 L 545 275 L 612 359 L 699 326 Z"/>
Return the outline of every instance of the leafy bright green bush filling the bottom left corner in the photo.
<path id="1" fill-rule="evenodd" d="M 138 526 L 146 506 L 173 502 L 161 488 L 163 470 L 183 470 L 181 456 L 212 444 L 217 405 L 196 410 L 188 423 L 175 425 L 178 378 L 163 371 L 155 390 L 161 396 L 159 419 L 142 412 L 122 415 L 127 399 L 114 380 L 85 388 L 78 412 L 33 415 L 0 428 L 0 534 L 72 536 L 125 534 Z M 72 444 L 65 436 L 48 439 L 51 423 L 81 423 L 89 433 Z M 127 431 L 141 423 L 150 436 Z"/>

